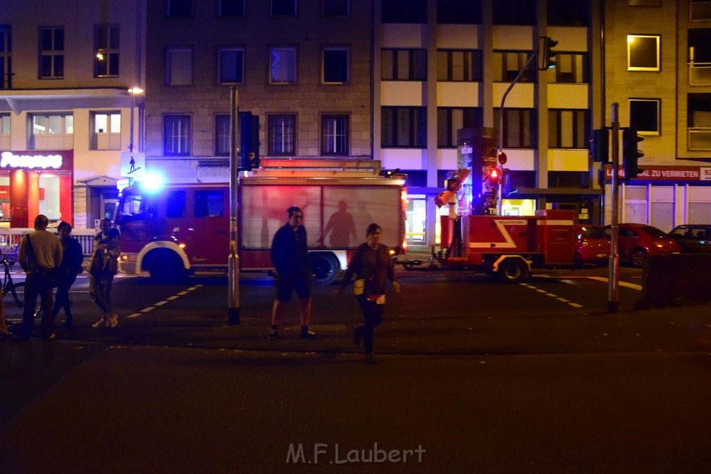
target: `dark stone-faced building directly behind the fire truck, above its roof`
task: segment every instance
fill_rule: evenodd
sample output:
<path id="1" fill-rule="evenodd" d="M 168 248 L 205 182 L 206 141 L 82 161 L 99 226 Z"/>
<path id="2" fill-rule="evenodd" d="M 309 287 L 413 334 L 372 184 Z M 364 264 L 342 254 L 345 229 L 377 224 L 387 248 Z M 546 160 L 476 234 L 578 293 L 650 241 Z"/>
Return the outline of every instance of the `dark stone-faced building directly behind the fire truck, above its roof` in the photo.
<path id="1" fill-rule="evenodd" d="M 149 2 L 146 167 L 229 180 L 230 89 L 260 154 L 373 157 L 369 0 Z"/>

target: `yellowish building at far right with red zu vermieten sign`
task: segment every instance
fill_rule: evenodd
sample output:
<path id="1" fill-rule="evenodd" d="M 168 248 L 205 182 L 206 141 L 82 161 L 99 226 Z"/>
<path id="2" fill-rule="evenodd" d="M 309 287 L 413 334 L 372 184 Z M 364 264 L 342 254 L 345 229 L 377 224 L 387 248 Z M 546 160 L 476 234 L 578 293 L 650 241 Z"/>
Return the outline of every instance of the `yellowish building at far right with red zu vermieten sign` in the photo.
<path id="1" fill-rule="evenodd" d="M 710 222 L 711 2 L 606 1 L 602 28 L 604 123 L 618 103 L 621 126 L 643 138 L 644 172 L 622 185 L 620 220 L 665 232 Z"/>

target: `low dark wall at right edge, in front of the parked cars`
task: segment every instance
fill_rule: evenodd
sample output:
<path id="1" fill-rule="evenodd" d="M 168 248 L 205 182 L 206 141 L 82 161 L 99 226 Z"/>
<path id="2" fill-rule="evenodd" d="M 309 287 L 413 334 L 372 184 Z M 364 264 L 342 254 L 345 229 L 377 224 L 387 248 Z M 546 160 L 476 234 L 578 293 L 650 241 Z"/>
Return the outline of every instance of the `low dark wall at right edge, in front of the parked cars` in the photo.
<path id="1" fill-rule="evenodd" d="M 648 255 L 642 268 L 642 308 L 711 302 L 711 254 Z"/>

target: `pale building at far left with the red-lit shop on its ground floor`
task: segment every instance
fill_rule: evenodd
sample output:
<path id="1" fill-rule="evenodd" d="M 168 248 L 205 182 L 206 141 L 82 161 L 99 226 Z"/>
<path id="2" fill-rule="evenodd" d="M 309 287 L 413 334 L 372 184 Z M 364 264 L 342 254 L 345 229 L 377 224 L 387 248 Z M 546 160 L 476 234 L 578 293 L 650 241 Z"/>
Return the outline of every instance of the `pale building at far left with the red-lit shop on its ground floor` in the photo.
<path id="1" fill-rule="evenodd" d="M 43 213 L 94 227 L 113 214 L 144 12 L 143 0 L 2 2 L 0 226 L 31 227 Z"/>

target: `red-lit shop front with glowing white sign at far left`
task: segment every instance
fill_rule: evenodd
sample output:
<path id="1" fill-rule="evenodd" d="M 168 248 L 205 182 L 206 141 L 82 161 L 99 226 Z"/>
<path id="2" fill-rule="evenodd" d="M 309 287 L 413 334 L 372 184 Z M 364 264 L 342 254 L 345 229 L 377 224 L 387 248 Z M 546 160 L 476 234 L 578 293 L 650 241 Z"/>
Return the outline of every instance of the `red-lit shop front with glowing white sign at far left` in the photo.
<path id="1" fill-rule="evenodd" d="M 72 150 L 0 151 L 0 227 L 33 227 L 38 214 L 73 224 Z"/>

